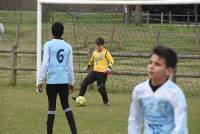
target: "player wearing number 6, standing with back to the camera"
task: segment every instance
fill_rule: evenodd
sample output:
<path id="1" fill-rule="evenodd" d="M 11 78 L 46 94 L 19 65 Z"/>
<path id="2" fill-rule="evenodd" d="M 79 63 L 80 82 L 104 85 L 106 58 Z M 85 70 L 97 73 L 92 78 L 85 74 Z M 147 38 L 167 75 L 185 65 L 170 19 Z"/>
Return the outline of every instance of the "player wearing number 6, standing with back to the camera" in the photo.
<path id="1" fill-rule="evenodd" d="M 37 90 L 42 92 L 42 82 L 46 79 L 48 97 L 47 134 L 53 133 L 57 95 L 60 96 L 60 102 L 71 133 L 77 134 L 74 116 L 68 103 L 69 90 L 74 89 L 72 47 L 62 39 L 64 32 L 62 23 L 55 22 L 51 31 L 54 39 L 47 41 L 44 45 L 43 62 L 37 80 Z"/>

